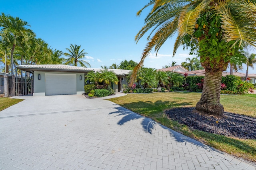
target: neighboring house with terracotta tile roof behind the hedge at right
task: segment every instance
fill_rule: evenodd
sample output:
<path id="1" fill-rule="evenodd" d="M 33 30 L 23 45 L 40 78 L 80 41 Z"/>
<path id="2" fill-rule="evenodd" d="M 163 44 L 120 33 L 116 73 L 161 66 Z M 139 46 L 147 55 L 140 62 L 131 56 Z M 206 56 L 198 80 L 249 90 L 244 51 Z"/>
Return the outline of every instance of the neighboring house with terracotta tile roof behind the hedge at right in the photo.
<path id="1" fill-rule="evenodd" d="M 205 70 L 194 70 L 194 71 L 188 71 L 186 68 L 184 68 L 183 66 L 172 66 L 172 67 L 168 67 L 168 68 L 162 68 L 159 69 L 159 71 L 171 71 L 171 72 L 176 72 L 179 74 L 184 74 L 185 72 L 188 73 L 188 76 L 204 76 L 205 74 Z M 226 76 L 229 75 L 229 72 L 222 72 L 222 76 Z M 245 73 L 241 73 L 241 72 L 233 72 L 233 75 L 238 76 L 241 78 L 241 80 L 245 80 Z M 256 83 L 256 74 L 248 74 L 248 78 L 250 78 L 250 80 L 248 80 L 249 82 L 255 84 Z"/>

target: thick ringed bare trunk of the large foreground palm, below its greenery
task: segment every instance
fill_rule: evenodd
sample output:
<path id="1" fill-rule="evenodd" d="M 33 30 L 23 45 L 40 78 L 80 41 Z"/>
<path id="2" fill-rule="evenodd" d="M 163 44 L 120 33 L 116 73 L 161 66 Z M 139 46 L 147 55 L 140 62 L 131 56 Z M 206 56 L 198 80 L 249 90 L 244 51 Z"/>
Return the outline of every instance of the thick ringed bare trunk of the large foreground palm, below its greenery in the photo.
<path id="1" fill-rule="evenodd" d="M 196 104 L 198 111 L 223 116 L 224 107 L 220 104 L 220 85 L 222 71 L 207 71 L 204 77 L 203 92 L 200 101 Z"/>

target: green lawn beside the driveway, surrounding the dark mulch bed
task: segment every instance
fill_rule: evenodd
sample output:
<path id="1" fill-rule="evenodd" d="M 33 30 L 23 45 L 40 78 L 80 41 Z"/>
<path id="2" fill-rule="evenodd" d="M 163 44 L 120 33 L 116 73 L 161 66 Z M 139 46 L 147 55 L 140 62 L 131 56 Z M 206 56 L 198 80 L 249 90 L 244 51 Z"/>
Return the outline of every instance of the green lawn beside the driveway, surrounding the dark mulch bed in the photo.
<path id="1" fill-rule="evenodd" d="M 200 97 L 200 93 L 172 92 L 127 94 L 109 100 L 211 147 L 256 162 L 256 140 L 231 138 L 192 130 L 186 125 L 170 120 L 164 114 L 164 110 L 174 107 L 195 107 Z M 220 103 L 224 106 L 225 111 L 256 117 L 256 94 L 221 95 Z"/>

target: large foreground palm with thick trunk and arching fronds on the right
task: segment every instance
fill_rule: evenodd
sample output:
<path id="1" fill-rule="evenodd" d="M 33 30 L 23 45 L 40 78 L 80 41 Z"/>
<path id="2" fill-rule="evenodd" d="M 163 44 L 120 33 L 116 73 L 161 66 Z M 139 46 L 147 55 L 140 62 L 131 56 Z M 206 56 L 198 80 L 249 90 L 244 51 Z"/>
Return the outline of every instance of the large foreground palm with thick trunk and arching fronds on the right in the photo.
<path id="1" fill-rule="evenodd" d="M 132 82 L 152 49 L 155 47 L 157 53 L 164 42 L 178 32 L 173 55 L 180 45 L 190 47 L 190 53 L 198 54 L 206 70 L 202 96 L 196 109 L 222 116 L 222 71 L 226 70 L 235 49 L 256 46 L 256 14 L 252 12 L 256 9 L 255 0 L 150 0 L 137 16 L 149 6 L 153 8 L 135 40 L 149 30 L 151 33 L 141 61 L 134 68 Z"/>

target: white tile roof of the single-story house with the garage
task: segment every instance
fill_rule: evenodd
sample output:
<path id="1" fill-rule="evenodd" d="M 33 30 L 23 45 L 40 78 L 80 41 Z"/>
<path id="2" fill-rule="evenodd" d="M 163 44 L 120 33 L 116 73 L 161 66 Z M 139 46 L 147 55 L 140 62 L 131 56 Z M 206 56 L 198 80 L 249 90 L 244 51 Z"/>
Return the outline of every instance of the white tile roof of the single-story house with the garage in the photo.
<path id="1" fill-rule="evenodd" d="M 64 64 L 31 64 L 31 65 L 19 65 L 17 66 L 20 70 L 27 72 L 33 71 L 55 71 L 55 72 L 89 72 L 89 71 L 100 71 L 102 68 L 86 68 L 78 66 L 68 66 Z M 118 70 L 118 69 L 108 69 L 112 70 L 116 75 L 126 75 L 129 74 L 131 70 Z"/>

